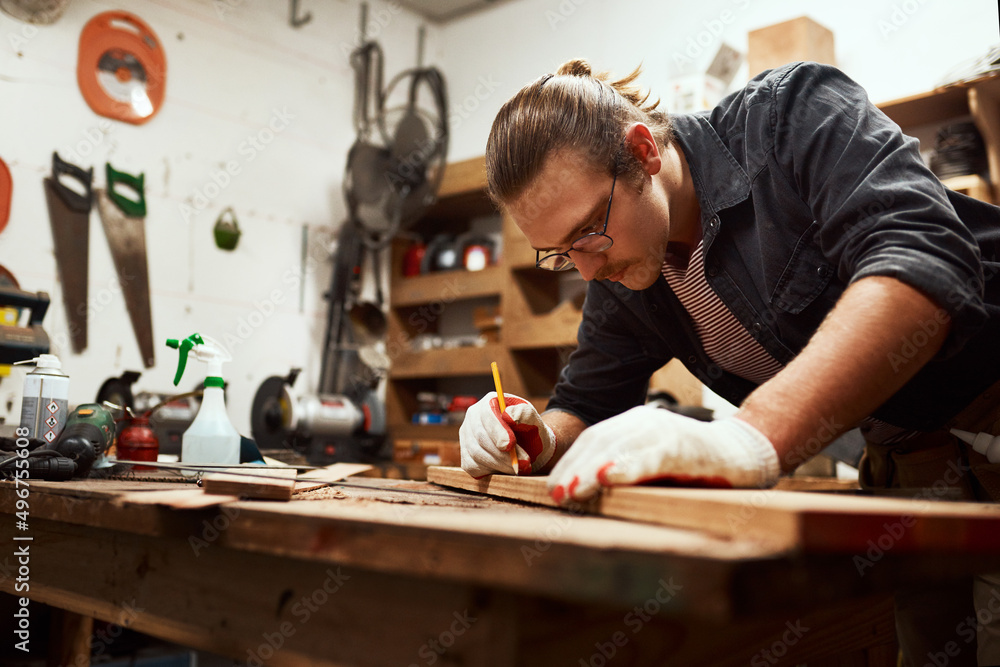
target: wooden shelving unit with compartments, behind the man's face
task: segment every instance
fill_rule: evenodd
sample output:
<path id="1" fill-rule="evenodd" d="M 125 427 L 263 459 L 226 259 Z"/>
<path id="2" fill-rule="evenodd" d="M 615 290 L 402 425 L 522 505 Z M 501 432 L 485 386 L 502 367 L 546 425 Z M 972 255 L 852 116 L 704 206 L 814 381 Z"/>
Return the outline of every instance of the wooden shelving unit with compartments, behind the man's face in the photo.
<path id="1" fill-rule="evenodd" d="M 485 188 L 482 158 L 448 165 L 437 203 L 414 231 L 425 238 L 461 233 L 474 218 L 498 215 Z M 404 277 L 407 241 L 400 239 L 393 246 L 387 339 L 392 365 L 386 407 L 390 437 L 397 450 L 433 451 L 429 443 L 457 443 L 457 425 L 412 423 L 419 392 L 437 391 L 442 384 L 461 379 L 481 388 L 481 395 L 493 388 L 490 362 L 496 361 L 504 391 L 525 397 L 541 410 L 576 347 L 582 280 L 575 271 L 536 269 L 535 252 L 517 226 L 509 219 L 499 224 L 501 257 L 495 266 L 481 271 Z M 576 296 L 567 298 L 567 293 Z M 496 342 L 481 347 L 414 349 L 413 341 L 419 334 L 437 332 L 447 311 L 470 300 L 499 308 L 502 324 Z M 474 331 L 471 321 L 468 325 Z M 701 384 L 682 366 L 665 367 L 654 376 L 651 386 L 671 391 L 683 404 L 701 404 Z"/>

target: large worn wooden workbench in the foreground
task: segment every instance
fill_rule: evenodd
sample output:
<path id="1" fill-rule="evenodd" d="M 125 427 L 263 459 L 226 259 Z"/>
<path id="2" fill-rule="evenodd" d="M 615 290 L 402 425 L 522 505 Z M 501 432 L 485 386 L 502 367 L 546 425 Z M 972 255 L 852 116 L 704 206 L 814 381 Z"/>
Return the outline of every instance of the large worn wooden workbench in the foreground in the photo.
<path id="1" fill-rule="evenodd" d="M 67 612 L 60 664 L 86 664 L 72 619 L 96 618 L 247 665 L 888 666 L 894 586 L 1000 569 L 992 543 L 878 549 L 873 532 L 859 570 L 815 545 L 350 483 L 266 502 L 34 482 L 22 526 L 0 482 L 0 590 L 27 546 L 28 596 Z"/>

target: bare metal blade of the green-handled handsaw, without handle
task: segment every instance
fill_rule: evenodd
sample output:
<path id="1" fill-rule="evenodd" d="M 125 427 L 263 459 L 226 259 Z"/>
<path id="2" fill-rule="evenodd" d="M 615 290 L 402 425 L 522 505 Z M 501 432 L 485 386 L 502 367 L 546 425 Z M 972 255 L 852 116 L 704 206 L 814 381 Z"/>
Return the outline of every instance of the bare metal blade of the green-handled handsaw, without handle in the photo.
<path id="1" fill-rule="evenodd" d="M 97 210 L 101 214 L 104 235 L 108 239 L 115 272 L 125 297 L 125 307 L 132 321 L 146 368 L 155 364 L 153 352 L 153 317 L 149 304 L 149 269 L 146 264 L 145 218 L 122 213 L 121 209 L 101 189 L 94 190 Z"/>

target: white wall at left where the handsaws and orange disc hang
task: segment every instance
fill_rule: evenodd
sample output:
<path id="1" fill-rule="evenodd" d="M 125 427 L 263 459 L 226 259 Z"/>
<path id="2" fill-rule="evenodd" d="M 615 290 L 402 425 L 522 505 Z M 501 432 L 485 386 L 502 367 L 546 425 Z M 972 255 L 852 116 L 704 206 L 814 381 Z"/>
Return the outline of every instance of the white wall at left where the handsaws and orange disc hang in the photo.
<path id="1" fill-rule="evenodd" d="M 421 20 L 394 4 L 369 4 L 370 35 L 386 51 L 386 74 L 412 67 Z M 284 0 L 71 0 L 58 22 L 37 29 L 0 14 L 0 158 L 14 182 L 0 264 L 23 289 L 51 295 L 44 326 L 71 377 L 71 404 L 93 400 L 104 379 L 143 368 L 96 211 L 90 219 L 90 343 L 80 355 L 70 350 L 42 188 L 53 150 L 84 168 L 93 165 L 98 187 L 106 161 L 146 175 L 157 363 L 143 371 L 137 391 L 171 390 L 177 353 L 164 340 L 196 331 L 232 343 L 229 410 L 244 433 L 253 394 L 267 376 L 300 366 L 300 386 L 315 389 L 330 242 L 345 216 L 341 182 L 354 140 L 346 54 L 357 43 L 360 12 L 357 0 L 300 6 L 313 19 L 299 29 L 289 26 Z M 164 45 L 167 97 L 146 125 L 97 116 L 77 88 L 80 31 L 110 9 L 137 14 Z M 434 36 L 431 26 L 428 40 Z M 263 150 L 251 150 L 248 137 L 278 115 L 289 118 L 287 127 Z M 260 137 L 268 138 L 266 132 Z M 218 172 L 230 161 L 239 173 L 227 184 Z M 215 187 L 213 175 L 224 187 Z M 197 208 L 199 193 L 209 195 L 207 207 L 185 216 L 182 205 Z M 212 239 L 227 206 L 243 230 L 232 253 Z M 304 225 L 310 259 L 300 304 Z M 183 390 L 198 382 L 198 366 L 189 365 Z M 22 376 L 18 369 L 0 382 L 0 416 L 8 422 L 17 421 Z"/>

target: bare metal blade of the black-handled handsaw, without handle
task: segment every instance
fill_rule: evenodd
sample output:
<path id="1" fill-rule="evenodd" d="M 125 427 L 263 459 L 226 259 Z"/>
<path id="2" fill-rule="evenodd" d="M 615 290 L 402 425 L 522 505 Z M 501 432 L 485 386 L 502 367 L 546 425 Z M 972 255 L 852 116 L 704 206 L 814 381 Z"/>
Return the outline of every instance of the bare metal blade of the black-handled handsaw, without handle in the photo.
<path id="1" fill-rule="evenodd" d="M 82 210 L 60 195 L 60 184 L 45 178 L 45 202 L 52 225 L 52 243 L 59 280 L 62 283 L 63 307 L 69 324 L 73 352 L 87 349 L 87 263 L 90 248 L 90 209 Z"/>

